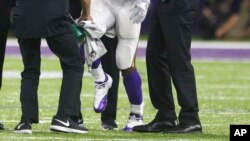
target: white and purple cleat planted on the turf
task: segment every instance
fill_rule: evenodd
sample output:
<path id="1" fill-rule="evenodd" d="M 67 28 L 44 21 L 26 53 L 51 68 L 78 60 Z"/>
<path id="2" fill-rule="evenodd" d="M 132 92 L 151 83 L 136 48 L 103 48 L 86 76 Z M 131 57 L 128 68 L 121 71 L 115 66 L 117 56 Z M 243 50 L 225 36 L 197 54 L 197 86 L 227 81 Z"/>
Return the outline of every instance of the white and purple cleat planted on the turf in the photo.
<path id="1" fill-rule="evenodd" d="M 123 128 L 123 131 L 125 132 L 131 132 L 133 131 L 133 127 L 139 126 L 143 124 L 143 116 L 139 114 L 130 113 L 129 119 L 125 127 Z"/>

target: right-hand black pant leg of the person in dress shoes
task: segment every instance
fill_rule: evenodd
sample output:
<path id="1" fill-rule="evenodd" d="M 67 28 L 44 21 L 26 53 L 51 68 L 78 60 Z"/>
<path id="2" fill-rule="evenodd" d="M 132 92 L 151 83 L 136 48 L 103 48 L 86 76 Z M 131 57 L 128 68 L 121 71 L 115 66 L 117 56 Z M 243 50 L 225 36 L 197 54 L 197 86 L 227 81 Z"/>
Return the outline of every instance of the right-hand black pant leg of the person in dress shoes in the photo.
<path id="1" fill-rule="evenodd" d="M 198 1 L 183 1 L 183 3 L 175 3 L 173 7 L 175 7 L 173 10 L 176 14 L 162 9 L 162 12 L 166 14 L 161 14 L 160 18 L 163 25 L 170 73 L 176 88 L 178 103 L 181 106 L 179 121 L 180 123 L 196 124 L 200 121 L 190 45 L 192 38 L 191 29 L 195 12 L 198 8 Z"/>

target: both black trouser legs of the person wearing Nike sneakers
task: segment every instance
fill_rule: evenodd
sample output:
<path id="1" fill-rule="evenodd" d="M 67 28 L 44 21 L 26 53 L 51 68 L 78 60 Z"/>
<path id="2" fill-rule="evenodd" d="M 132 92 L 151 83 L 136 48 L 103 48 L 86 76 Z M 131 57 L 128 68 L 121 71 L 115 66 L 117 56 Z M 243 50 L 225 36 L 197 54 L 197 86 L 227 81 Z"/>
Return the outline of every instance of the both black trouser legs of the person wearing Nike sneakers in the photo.
<path id="1" fill-rule="evenodd" d="M 78 45 L 72 33 L 47 37 L 46 40 L 51 51 L 59 58 L 63 71 L 57 116 L 78 117 L 83 76 Z M 19 39 L 18 42 L 24 64 L 20 96 L 22 119 L 38 123 L 37 90 L 41 65 L 41 39 Z"/>

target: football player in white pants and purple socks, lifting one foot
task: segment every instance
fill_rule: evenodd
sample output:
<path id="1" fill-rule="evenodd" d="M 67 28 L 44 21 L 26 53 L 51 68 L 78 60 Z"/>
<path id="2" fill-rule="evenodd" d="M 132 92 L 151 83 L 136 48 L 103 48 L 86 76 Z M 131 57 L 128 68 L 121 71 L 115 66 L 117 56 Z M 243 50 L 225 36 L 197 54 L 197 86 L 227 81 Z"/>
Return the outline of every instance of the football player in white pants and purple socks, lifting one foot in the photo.
<path id="1" fill-rule="evenodd" d="M 90 13 L 93 22 L 105 25 L 107 36 L 118 38 L 116 64 L 122 72 L 130 102 L 130 116 L 124 131 L 132 131 L 134 126 L 143 124 L 141 78 L 135 67 L 135 52 L 141 22 L 145 19 L 149 4 L 150 0 L 91 0 Z M 100 60 L 93 63 L 91 74 L 94 76 L 96 88 L 94 109 L 101 112 L 107 105 L 106 97 L 112 79 L 103 71 Z"/>

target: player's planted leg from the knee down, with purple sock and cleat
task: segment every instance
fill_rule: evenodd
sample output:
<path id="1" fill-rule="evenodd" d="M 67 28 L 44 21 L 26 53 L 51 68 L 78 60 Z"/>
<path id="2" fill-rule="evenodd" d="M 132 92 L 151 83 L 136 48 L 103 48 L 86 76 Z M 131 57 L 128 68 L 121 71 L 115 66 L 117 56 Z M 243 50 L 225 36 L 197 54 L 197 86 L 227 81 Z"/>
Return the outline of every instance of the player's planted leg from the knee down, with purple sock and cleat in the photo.
<path id="1" fill-rule="evenodd" d="M 130 102 L 129 119 L 123 129 L 128 132 L 132 131 L 134 126 L 143 124 L 142 82 L 134 63 L 137 42 L 135 39 L 120 39 L 116 51 L 117 66 L 122 71 L 123 84 Z"/>

